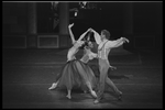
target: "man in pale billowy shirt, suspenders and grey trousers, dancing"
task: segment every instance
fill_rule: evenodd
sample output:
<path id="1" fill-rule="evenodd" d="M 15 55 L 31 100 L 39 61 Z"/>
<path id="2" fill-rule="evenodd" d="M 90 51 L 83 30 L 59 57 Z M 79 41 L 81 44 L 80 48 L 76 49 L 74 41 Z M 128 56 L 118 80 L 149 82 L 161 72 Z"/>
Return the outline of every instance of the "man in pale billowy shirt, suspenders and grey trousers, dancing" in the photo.
<path id="1" fill-rule="evenodd" d="M 105 91 L 105 84 L 108 84 L 113 89 L 113 91 L 118 95 L 118 99 L 121 99 L 122 92 L 116 87 L 112 80 L 108 77 L 109 67 L 113 68 L 113 66 L 111 66 L 108 61 L 108 55 L 111 48 L 119 47 L 125 42 L 129 43 L 129 40 L 125 37 L 120 37 L 116 41 L 109 41 L 109 37 L 110 37 L 109 31 L 102 30 L 101 35 L 99 35 L 95 30 L 92 29 L 90 30 L 91 32 L 94 32 L 96 43 L 99 45 L 98 46 L 98 61 L 99 61 L 100 78 L 99 78 L 99 89 L 97 92 L 98 97 L 95 100 L 95 103 L 98 103 L 100 99 L 102 98 L 102 95 Z"/>

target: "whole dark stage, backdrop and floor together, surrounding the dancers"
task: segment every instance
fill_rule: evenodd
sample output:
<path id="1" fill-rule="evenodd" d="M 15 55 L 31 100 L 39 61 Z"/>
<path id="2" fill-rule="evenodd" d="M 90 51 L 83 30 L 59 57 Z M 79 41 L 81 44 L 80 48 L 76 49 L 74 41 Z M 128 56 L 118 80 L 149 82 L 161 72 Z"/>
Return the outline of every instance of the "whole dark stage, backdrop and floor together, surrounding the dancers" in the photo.
<path id="1" fill-rule="evenodd" d="M 73 91 L 68 100 L 66 91 L 48 90 L 72 46 L 69 23 L 76 40 L 89 28 L 110 31 L 110 40 L 130 40 L 109 55 L 118 68 L 109 77 L 123 92 L 122 101 L 110 88 L 99 105 L 90 94 Z M 161 1 L 2 2 L 3 108 L 163 108 L 162 61 Z M 96 68 L 97 59 L 89 65 Z"/>

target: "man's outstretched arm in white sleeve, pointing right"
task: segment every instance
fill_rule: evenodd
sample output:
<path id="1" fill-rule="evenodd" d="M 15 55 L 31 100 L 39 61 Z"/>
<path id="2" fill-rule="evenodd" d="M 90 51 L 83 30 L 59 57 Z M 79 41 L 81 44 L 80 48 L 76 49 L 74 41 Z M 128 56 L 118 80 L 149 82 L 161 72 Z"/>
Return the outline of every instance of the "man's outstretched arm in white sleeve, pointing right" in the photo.
<path id="1" fill-rule="evenodd" d="M 129 43 L 129 40 L 128 38 L 125 38 L 125 37 L 120 37 L 120 38 L 118 38 L 118 40 L 116 40 L 116 41 L 111 41 L 111 42 L 109 42 L 109 44 L 108 44 L 108 46 L 109 47 L 119 47 L 119 46 L 121 46 L 123 43 L 125 43 L 125 42 L 128 42 Z"/>

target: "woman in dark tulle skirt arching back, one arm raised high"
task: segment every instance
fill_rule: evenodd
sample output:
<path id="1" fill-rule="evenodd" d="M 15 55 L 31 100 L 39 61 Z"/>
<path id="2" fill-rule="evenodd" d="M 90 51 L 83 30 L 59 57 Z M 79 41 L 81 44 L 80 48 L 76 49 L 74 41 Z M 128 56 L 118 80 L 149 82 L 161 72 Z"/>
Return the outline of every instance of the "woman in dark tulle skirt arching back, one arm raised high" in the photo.
<path id="1" fill-rule="evenodd" d="M 48 89 L 55 89 L 56 87 L 66 87 L 67 88 L 67 98 L 72 99 L 70 91 L 73 87 L 84 87 L 85 85 L 88 87 L 90 94 L 97 98 L 96 92 L 91 87 L 91 78 L 89 78 L 86 66 L 81 61 L 76 59 L 75 54 L 79 51 L 79 48 L 85 44 L 85 41 L 81 41 L 84 36 L 90 31 L 87 30 L 76 41 L 74 34 L 72 32 L 73 24 L 68 25 L 69 34 L 73 42 L 73 47 L 68 50 L 67 53 L 67 63 L 62 67 L 61 72 L 57 74 L 55 82 L 53 82 L 52 87 Z"/>

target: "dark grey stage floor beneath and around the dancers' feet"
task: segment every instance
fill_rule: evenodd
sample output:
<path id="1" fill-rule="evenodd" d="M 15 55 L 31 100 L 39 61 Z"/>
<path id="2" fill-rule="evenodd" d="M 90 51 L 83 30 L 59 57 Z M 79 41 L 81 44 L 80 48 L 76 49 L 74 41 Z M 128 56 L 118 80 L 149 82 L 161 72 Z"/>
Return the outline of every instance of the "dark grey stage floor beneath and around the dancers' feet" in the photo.
<path id="1" fill-rule="evenodd" d="M 68 100 L 66 90 L 48 90 L 66 62 L 65 55 L 57 54 L 62 51 L 3 51 L 2 108 L 163 108 L 162 53 L 138 51 L 110 56 L 118 69 L 109 77 L 123 98 L 117 100 L 108 88 L 103 100 L 94 105 L 90 94 L 74 90 Z"/>

